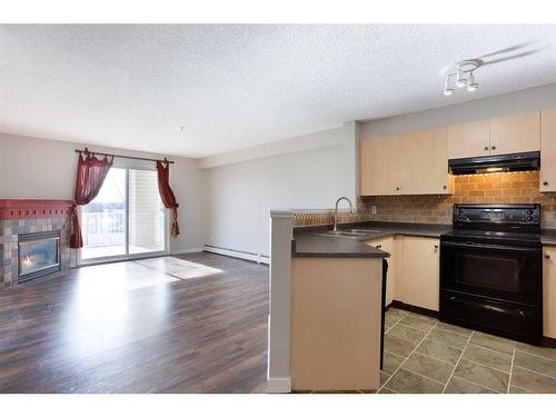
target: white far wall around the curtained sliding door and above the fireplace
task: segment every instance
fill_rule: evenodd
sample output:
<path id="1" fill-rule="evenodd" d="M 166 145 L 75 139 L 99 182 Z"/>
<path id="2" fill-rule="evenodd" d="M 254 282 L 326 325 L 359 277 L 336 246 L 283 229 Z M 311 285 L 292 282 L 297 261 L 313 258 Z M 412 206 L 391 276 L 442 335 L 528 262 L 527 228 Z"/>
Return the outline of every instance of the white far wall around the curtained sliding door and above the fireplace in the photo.
<path id="1" fill-rule="evenodd" d="M 0 133 L 0 198 L 73 199 L 77 148 L 83 145 Z M 113 148 L 91 147 L 97 151 L 161 158 L 159 155 Z M 163 156 L 162 156 L 163 158 Z M 170 250 L 202 248 L 205 200 L 202 172 L 197 162 L 175 158 L 170 183 L 180 205 L 181 235 L 170 239 Z M 115 166 L 155 168 L 153 162 L 116 159 Z"/>

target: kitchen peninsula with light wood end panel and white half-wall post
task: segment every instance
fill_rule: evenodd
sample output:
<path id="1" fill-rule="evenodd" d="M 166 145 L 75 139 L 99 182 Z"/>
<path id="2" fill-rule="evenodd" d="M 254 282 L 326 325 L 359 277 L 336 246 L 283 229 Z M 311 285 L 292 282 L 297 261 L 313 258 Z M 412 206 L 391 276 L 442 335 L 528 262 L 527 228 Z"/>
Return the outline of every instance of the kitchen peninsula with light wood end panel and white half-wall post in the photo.
<path id="1" fill-rule="evenodd" d="M 268 391 L 377 390 L 383 259 L 358 239 L 306 232 L 271 210 Z"/>

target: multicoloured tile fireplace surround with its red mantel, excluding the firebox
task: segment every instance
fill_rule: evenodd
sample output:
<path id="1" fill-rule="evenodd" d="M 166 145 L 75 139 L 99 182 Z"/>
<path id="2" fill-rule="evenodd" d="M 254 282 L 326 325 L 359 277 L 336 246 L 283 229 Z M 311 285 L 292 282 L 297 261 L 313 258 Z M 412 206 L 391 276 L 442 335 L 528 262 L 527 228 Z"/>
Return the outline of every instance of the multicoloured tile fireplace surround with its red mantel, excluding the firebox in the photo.
<path id="1" fill-rule="evenodd" d="M 19 236 L 58 231 L 60 236 L 60 270 L 70 267 L 70 200 L 0 200 L 0 285 L 18 284 Z"/>

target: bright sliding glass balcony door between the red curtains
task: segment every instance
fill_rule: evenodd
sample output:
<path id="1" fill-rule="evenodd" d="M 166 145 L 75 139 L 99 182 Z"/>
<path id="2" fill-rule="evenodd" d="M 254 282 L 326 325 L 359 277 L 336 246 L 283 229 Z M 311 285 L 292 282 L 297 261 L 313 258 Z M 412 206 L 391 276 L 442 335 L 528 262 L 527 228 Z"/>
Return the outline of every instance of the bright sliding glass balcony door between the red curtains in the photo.
<path id="1" fill-rule="evenodd" d="M 81 210 L 81 260 L 163 252 L 166 218 L 156 171 L 111 168 Z"/>

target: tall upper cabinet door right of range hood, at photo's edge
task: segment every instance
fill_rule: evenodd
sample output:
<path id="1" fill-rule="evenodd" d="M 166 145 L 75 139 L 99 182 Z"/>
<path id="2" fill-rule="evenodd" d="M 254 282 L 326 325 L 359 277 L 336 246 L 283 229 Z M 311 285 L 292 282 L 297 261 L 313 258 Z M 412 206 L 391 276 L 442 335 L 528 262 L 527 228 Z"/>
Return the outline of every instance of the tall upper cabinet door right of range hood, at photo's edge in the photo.
<path id="1" fill-rule="evenodd" d="M 556 109 L 540 113 L 540 192 L 556 191 Z"/>

